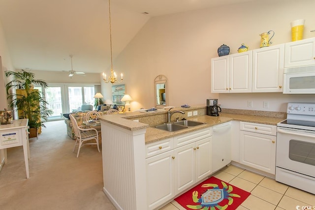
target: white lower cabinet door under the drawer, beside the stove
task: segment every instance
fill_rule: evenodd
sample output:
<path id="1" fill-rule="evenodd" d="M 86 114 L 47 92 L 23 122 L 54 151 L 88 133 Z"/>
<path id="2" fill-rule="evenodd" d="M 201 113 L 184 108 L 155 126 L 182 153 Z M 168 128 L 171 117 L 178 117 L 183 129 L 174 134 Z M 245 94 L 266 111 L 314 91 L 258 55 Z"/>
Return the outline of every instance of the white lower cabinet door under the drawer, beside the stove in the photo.
<path id="1" fill-rule="evenodd" d="M 275 174 L 276 136 L 240 131 L 240 163 Z"/>

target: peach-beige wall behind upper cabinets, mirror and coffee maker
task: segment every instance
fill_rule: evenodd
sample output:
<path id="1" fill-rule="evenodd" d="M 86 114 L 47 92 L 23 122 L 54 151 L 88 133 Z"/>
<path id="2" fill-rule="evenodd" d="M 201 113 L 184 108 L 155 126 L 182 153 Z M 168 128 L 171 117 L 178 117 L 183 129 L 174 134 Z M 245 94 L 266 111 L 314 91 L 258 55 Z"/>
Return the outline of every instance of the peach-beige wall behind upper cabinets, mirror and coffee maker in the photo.
<path id="1" fill-rule="evenodd" d="M 290 22 L 305 19 L 304 38 L 315 36 L 314 0 L 253 1 L 231 6 L 151 18 L 114 60 L 114 69 L 125 74 L 126 91 L 134 99 L 131 109 L 154 106 L 154 79 L 169 79 L 169 105 L 205 104 L 218 98 L 223 108 L 284 111 L 288 101 L 313 101 L 315 95 L 281 93 L 212 94 L 211 58 L 222 44 L 237 53 L 242 43 L 259 48 L 260 33 L 275 31 L 273 45 L 291 41 Z M 263 109 L 264 100 L 269 109 Z M 245 103 L 246 101 L 246 103 Z"/>

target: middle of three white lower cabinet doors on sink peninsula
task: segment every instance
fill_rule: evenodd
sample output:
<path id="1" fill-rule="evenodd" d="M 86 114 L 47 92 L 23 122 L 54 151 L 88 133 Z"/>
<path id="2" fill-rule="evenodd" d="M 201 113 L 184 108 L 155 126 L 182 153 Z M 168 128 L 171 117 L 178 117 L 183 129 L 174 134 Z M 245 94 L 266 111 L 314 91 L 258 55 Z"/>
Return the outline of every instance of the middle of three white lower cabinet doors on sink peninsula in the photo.
<path id="1" fill-rule="evenodd" d="M 195 183 L 195 143 L 174 150 L 175 194 Z"/>

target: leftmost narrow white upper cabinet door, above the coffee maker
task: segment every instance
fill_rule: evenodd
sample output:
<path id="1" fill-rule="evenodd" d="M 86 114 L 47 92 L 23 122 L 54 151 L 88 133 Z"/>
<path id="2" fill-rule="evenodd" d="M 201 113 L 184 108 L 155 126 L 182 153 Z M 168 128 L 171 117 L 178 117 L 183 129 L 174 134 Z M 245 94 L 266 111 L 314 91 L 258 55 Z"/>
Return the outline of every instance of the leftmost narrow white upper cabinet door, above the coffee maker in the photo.
<path id="1" fill-rule="evenodd" d="M 229 56 L 211 59 L 211 92 L 224 93 L 229 89 Z"/>

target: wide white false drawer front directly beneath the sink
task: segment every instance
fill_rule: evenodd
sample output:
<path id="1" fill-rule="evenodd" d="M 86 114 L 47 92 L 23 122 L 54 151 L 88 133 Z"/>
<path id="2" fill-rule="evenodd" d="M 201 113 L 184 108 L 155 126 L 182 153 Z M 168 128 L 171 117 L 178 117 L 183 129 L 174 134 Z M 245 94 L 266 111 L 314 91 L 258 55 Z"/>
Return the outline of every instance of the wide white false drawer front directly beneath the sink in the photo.
<path id="1" fill-rule="evenodd" d="M 179 136 L 174 137 L 174 148 L 181 147 L 183 145 L 187 145 L 189 143 L 199 141 L 201 139 L 212 136 L 212 127 L 192 131 L 190 133 L 185 133 Z"/>

